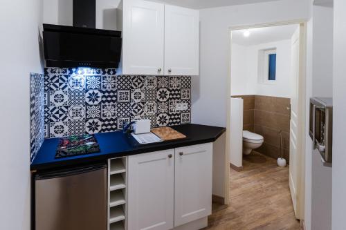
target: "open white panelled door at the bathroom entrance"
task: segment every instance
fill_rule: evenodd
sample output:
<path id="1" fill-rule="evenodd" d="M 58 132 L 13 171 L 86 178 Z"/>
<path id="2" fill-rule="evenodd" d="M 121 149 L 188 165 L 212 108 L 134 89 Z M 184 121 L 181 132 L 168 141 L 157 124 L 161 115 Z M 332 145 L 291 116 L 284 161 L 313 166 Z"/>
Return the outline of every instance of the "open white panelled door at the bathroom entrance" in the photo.
<path id="1" fill-rule="evenodd" d="M 295 217 L 301 218 L 300 207 L 302 202 L 300 178 L 302 174 L 302 95 L 300 88 L 300 33 L 301 28 L 295 30 L 291 38 L 291 121 L 289 144 L 289 188 L 295 211 Z"/>

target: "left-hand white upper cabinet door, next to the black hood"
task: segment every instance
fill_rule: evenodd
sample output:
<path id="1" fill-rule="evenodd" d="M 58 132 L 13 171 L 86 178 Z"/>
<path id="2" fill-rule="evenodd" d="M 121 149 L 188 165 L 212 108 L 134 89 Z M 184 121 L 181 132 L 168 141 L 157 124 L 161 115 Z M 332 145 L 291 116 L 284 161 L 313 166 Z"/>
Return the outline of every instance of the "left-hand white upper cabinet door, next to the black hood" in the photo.
<path id="1" fill-rule="evenodd" d="M 164 5 L 143 0 L 123 3 L 122 73 L 162 75 Z"/>

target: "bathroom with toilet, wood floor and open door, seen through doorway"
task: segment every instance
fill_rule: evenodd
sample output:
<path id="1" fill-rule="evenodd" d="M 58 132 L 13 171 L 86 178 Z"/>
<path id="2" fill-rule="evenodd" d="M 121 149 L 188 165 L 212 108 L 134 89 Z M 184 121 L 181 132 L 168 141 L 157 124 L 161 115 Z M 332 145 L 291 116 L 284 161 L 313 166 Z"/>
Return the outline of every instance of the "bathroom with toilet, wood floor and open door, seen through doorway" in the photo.
<path id="1" fill-rule="evenodd" d="M 299 227 L 301 28 L 237 28 L 230 37 L 230 202 L 251 203 L 248 213 L 284 203 L 290 227 Z"/>

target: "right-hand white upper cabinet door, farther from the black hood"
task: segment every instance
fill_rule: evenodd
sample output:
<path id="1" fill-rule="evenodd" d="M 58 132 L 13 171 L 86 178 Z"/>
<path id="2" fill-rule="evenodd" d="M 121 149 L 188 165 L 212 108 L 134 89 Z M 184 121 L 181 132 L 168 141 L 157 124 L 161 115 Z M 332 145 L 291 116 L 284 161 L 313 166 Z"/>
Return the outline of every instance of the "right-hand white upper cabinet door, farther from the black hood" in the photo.
<path id="1" fill-rule="evenodd" d="M 199 11 L 165 6 L 165 75 L 199 75 Z"/>

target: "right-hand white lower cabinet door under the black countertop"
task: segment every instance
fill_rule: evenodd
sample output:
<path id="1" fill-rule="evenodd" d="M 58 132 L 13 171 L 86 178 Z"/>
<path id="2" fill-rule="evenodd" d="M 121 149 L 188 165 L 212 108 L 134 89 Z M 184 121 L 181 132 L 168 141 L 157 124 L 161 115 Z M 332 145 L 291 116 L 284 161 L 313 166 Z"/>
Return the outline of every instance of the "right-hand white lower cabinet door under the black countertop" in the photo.
<path id="1" fill-rule="evenodd" d="M 175 149 L 174 227 L 212 212 L 212 143 Z"/>

